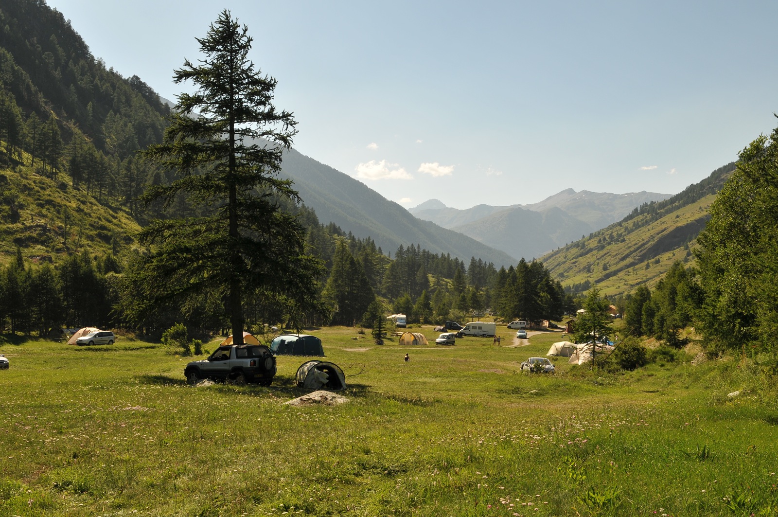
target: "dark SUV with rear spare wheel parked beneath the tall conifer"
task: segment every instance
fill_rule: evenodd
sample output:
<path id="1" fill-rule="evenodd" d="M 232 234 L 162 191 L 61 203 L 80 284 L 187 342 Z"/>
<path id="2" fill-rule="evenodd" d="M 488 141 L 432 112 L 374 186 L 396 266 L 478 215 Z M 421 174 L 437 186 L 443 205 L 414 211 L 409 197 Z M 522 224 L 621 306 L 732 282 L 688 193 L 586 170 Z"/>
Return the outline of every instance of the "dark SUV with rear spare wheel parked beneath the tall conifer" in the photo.
<path id="1" fill-rule="evenodd" d="M 275 372 L 275 355 L 265 345 L 219 346 L 208 359 L 193 360 L 184 368 L 190 384 L 204 379 L 230 381 L 235 384 L 256 382 L 269 386 Z"/>

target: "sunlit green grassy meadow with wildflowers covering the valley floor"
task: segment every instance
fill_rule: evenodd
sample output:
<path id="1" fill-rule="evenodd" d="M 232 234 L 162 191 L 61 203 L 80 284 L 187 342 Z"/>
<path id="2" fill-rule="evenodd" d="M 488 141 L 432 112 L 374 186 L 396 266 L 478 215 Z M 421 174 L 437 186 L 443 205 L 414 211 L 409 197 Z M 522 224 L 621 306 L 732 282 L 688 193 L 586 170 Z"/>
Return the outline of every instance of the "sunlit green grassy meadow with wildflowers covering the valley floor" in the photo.
<path id="1" fill-rule="evenodd" d="M 776 390 L 749 360 L 527 375 L 561 336 L 500 332 L 411 348 L 314 331 L 349 403 L 302 408 L 282 403 L 303 357 L 279 357 L 270 388 L 193 388 L 190 359 L 153 343 L 2 344 L 0 515 L 778 512 Z"/>

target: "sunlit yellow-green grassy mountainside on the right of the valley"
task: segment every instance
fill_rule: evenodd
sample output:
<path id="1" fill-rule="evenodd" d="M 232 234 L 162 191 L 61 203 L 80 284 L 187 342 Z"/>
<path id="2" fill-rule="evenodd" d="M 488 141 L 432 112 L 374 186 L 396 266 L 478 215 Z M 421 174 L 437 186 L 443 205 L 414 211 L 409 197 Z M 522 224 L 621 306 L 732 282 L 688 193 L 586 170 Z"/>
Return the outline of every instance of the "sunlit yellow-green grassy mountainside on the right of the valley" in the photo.
<path id="1" fill-rule="evenodd" d="M 643 205 L 541 260 L 565 286 L 597 284 L 609 295 L 626 294 L 640 284 L 653 287 L 676 260 L 693 261 L 691 248 L 708 220 L 708 209 L 734 162 L 670 199 Z"/>

